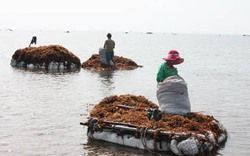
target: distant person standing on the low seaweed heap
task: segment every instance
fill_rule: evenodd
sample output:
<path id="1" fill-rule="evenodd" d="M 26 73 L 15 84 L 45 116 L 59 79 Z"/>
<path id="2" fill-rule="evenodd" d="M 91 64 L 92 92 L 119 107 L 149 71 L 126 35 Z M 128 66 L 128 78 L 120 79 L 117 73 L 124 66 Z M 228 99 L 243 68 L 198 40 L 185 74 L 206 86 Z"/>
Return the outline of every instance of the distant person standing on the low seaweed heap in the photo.
<path id="1" fill-rule="evenodd" d="M 115 48 L 115 41 L 111 39 L 112 35 L 110 33 L 107 34 L 107 40 L 104 43 L 103 48 L 106 50 L 106 57 L 108 65 L 115 65 L 114 62 L 114 48 Z"/>

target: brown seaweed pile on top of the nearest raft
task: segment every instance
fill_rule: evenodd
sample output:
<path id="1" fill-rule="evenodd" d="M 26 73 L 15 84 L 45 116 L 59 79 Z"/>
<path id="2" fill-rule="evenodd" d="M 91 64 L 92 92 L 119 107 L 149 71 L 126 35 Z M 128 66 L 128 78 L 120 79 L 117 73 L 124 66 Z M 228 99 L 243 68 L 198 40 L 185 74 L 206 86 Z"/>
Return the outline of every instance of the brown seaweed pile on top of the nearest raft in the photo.
<path id="1" fill-rule="evenodd" d="M 95 105 L 90 117 L 98 118 L 99 121 L 120 122 L 172 133 L 206 134 L 207 131 L 211 131 L 214 136 L 223 133 L 218 124 L 213 124 L 212 121 L 217 121 L 213 116 L 194 112 L 186 116 L 163 114 L 159 121 L 155 121 L 147 118 L 148 108 L 158 108 L 158 106 L 144 96 L 114 95 L 104 98 Z"/>

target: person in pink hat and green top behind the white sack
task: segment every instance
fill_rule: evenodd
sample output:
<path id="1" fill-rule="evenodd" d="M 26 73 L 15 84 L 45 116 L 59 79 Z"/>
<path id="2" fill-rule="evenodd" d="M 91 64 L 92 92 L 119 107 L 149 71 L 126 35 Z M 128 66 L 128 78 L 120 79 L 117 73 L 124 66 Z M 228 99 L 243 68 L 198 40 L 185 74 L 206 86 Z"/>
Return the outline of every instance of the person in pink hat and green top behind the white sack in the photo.
<path id="1" fill-rule="evenodd" d="M 179 56 L 179 52 L 176 50 L 170 50 L 168 56 L 163 58 L 165 62 L 161 64 L 157 73 L 157 82 L 163 82 L 167 77 L 178 75 L 178 70 L 174 65 L 180 64 L 184 61 Z"/>

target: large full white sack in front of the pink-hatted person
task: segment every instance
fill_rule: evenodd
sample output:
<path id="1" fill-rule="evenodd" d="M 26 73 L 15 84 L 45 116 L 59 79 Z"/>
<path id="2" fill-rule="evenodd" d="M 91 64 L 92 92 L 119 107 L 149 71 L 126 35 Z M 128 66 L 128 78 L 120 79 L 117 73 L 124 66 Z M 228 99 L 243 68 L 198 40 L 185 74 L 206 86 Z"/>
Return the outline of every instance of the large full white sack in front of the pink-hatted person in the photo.
<path id="1" fill-rule="evenodd" d="M 158 84 L 157 99 L 163 113 L 190 112 L 187 83 L 179 76 L 170 76 Z"/>

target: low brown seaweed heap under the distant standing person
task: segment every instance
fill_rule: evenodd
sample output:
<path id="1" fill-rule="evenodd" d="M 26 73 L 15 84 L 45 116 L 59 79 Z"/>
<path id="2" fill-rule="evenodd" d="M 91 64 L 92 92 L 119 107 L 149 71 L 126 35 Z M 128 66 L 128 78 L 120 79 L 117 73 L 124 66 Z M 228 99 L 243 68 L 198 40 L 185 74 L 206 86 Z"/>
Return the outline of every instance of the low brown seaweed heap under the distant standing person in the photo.
<path id="1" fill-rule="evenodd" d="M 138 67 L 142 67 L 137 65 L 134 61 L 128 58 L 114 56 L 115 66 L 108 66 L 105 64 L 101 64 L 100 55 L 93 54 L 87 61 L 82 63 L 82 68 L 94 70 L 94 71 L 102 71 L 102 70 L 132 70 Z"/>

